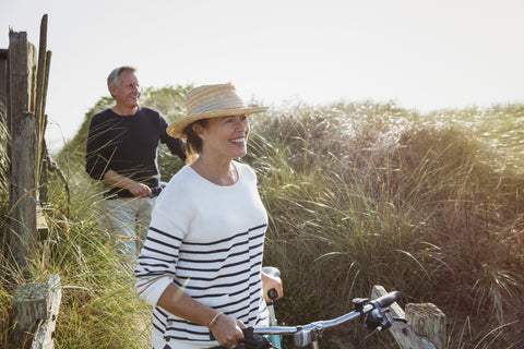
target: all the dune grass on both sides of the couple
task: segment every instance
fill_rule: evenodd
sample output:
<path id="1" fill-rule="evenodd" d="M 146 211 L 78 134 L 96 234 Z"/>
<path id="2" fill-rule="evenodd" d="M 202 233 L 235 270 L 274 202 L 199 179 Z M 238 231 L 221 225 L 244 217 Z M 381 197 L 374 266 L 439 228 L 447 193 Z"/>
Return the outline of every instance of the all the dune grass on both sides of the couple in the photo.
<path id="1" fill-rule="evenodd" d="M 172 121 L 188 88 L 148 88 L 142 100 Z M 102 98 L 56 156 L 70 180 L 71 206 L 59 182 L 49 185 L 51 232 L 31 275 L 8 266 L 5 250 L 0 256 L 3 342 L 16 285 L 58 273 L 64 290 L 57 348 L 147 347 L 148 308 L 97 222 L 103 189 L 83 170 L 88 120 L 111 104 Z M 523 117 L 522 105 L 420 115 L 364 101 L 250 118 L 242 161 L 257 170 L 270 215 L 265 263 L 285 280 L 279 321 L 335 317 L 382 285 L 402 292 L 401 305 L 439 306 L 448 316 L 448 348 L 522 346 Z M 0 132 L 2 213 L 5 136 Z M 166 147 L 158 164 L 163 180 L 182 166 Z M 3 218 L 0 227 L 5 236 Z M 326 332 L 323 341 L 336 348 L 341 338 L 359 336 L 350 324 Z M 367 347 L 392 346 L 380 336 Z"/>

